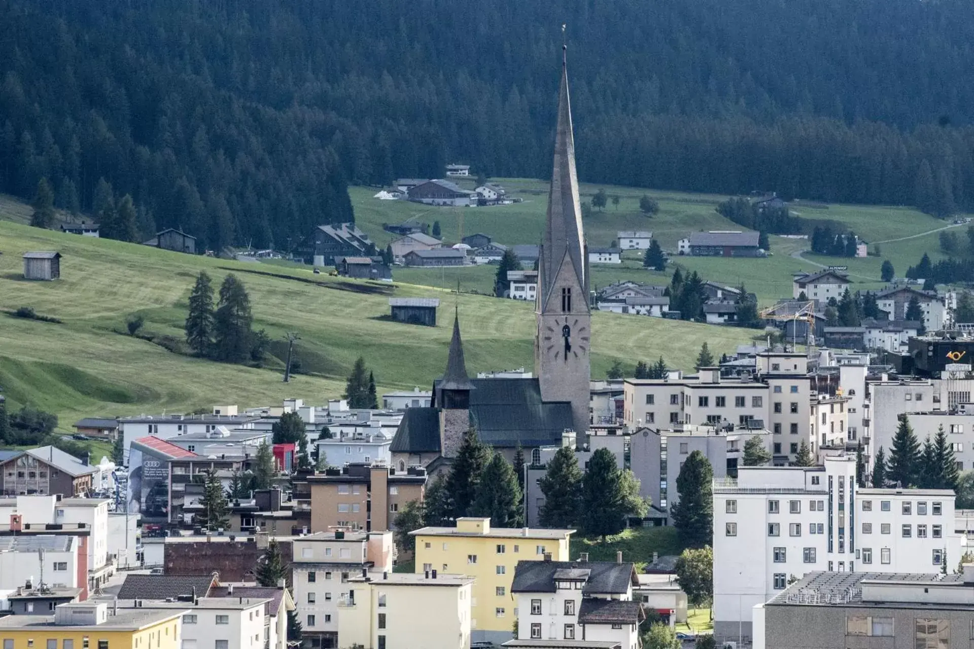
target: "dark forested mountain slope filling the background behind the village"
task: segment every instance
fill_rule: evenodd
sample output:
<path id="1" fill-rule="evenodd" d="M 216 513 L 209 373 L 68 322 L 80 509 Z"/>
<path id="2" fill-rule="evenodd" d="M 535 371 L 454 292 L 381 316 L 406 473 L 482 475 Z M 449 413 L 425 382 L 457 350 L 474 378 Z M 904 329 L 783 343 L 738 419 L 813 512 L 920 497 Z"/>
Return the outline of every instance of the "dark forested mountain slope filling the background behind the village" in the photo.
<path id="1" fill-rule="evenodd" d="M 974 202 L 968 0 L 0 0 L 0 189 L 282 246 L 347 182 L 545 177 L 562 22 L 585 180 Z"/>

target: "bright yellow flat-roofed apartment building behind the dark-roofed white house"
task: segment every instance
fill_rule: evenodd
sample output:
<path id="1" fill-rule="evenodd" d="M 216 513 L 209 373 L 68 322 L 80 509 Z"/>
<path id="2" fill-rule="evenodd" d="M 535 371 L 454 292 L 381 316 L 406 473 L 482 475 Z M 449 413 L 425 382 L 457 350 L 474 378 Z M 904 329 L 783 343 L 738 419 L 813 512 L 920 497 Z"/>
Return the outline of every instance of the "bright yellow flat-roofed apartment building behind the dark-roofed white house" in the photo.
<path id="1" fill-rule="evenodd" d="M 569 559 L 574 529 L 491 527 L 490 519 L 460 518 L 456 527 L 423 527 L 416 537 L 416 572 L 459 573 L 474 578 L 471 640 L 509 640 L 514 621 L 510 584 L 518 561 Z"/>

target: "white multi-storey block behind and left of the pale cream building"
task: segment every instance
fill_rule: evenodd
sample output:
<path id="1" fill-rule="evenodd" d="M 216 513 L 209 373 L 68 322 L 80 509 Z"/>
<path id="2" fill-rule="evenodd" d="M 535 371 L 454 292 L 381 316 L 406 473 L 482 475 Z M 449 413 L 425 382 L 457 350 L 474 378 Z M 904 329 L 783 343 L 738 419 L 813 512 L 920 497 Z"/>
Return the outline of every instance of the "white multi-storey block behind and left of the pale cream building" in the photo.
<path id="1" fill-rule="evenodd" d="M 392 553 L 379 550 L 384 547 L 383 534 L 374 534 L 379 542 L 371 548 L 369 536 L 366 532 L 318 532 L 292 541 L 291 584 L 306 646 L 337 646 L 338 602 L 349 596 L 351 577 L 363 570 L 392 571 Z"/>

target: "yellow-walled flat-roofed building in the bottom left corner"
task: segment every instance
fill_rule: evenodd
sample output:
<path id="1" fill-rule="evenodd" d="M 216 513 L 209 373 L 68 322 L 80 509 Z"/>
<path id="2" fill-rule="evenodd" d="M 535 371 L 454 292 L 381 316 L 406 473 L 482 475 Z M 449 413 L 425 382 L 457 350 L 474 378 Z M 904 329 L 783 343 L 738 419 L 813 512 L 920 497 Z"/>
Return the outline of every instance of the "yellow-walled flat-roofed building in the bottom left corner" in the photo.
<path id="1" fill-rule="evenodd" d="M 4 649 L 180 649 L 185 610 L 118 609 L 104 602 L 59 604 L 54 616 L 0 619 Z M 230 649 L 229 647 L 227 649 Z"/>

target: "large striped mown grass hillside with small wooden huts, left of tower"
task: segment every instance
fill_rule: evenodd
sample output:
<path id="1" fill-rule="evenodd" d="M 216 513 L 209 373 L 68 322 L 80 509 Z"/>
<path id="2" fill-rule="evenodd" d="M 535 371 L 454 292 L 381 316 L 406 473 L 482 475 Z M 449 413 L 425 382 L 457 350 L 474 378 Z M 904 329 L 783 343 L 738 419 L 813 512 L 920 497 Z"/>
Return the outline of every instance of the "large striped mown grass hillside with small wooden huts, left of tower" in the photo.
<path id="1" fill-rule="evenodd" d="M 59 251 L 61 279 L 24 280 L 20 255 L 27 250 Z M 288 396 L 321 403 L 343 392 L 359 355 L 374 369 L 380 390 L 426 387 L 445 365 L 454 306 L 471 374 L 533 364 L 533 305 L 510 300 L 182 255 L 9 221 L 0 221 L 0 252 L 0 309 L 32 306 L 63 321 L 0 313 L 0 386 L 14 407 L 31 404 L 56 413 L 61 429 L 81 416 L 208 411 L 217 404 L 243 408 Z M 181 339 L 186 301 L 200 270 L 217 284 L 236 272 L 249 292 L 255 328 L 276 341 L 279 358 L 284 334 L 298 332 L 296 355 L 310 374 L 284 384 L 277 358 L 267 369 L 223 365 L 120 333 L 138 313 L 144 332 Z M 392 295 L 439 297 L 438 326 L 387 319 Z M 690 369 L 704 341 L 719 353 L 756 333 L 612 313 L 596 313 L 593 330 L 595 378 L 617 359 L 631 367 L 660 354 L 671 366 Z"/>

